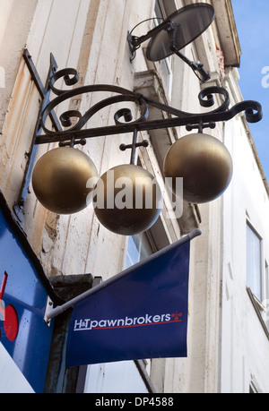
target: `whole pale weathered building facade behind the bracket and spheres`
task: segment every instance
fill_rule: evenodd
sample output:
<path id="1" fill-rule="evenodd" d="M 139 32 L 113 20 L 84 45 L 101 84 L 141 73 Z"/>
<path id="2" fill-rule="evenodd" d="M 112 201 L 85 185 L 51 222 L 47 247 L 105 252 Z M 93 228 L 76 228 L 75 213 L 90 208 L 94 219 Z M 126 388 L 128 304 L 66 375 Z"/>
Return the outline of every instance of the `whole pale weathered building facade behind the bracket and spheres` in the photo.
<path id="1" fill-rule="evenodd" d="M 195 2 L 176 2 L 178 8 L 189 3 Z M 4 68 L 6 86 L 1 89 L 0 99 L 0 189 L 13 207 L 39 110 L 39 93 L 22 60 L 25 46 L 43 82 L 50 52 L 59 69 L 77 68 L 81 84 L 108 83 L 133 90 L 135 73 L 160 70 L 145 61 L 143 47 L 131 63 L 126 41 L 128 30 L 152 17 L 153 0 L 0 0 L 0 8 L 0 66 Z M 203 61 L 213 74 L 208 85 L 221 85 L 223 80 L 216 55 L 216 46 L 221 47 L 220 24 L 213 23 L 184 50 L 190 59 Z M 151 22 L 145 22 L 135 35 L 150 28 Z M 178 58 L 172 59 L 172 67 L 172 94 L 170 99 L 166 96 L 169 104 L 200 112 L 199 81 Z M 226 75 L 225 87 L 232 97 L 239 98 L 237 88 L 230 85 L 236 83 L 237 74 L 227 70 Z M 98 98 L 100 95 L 78 97 L 70 107 L 84 111 Z M 116 111 L 104 110 L 92 119 L 92 126 L 113 124 Z M 187 132 L 182 127 L 177 133 L 181 137 Z M 250 380 L 258 381 L 260 390 L 268 392 L 269 344 L 246 291 L 245 240 L 247 212 L 264 238 L 265 258 L 269 261 L 268 194 L 239 118 L 225 126 L 218 124 L 206 133 L 227 145 L 234 160 L 234 176 L 220 199 L 199 207 L 203 236 L 192 242 L 188 358 L 152 361 L 151 378 L 157 392 L 247 392 Z M 101 175 L 129 161 L 130 153 L 121 152 L 118 146 L 130 143 L 131 138 L 122 135 L 91 139 L 82 150 Z M 148 134 L 140 138 L 148 138 Z M 40 146 L 38 157 L 54 147 L 56 144 Z M 155 176 L 161 176 L 152 146 L 140 150 L 140 158 Z M 178 220 L 170 223 L 162 216 L 162 223 L 169 242 L 181 235 Z M 91 272 L 106 279 L 125 266 L 126 237 L 100 226 L 91 206 L 73 216 L 56 216 L 39 204 L 30 187 L 23 229 L 48 276 Z"/>

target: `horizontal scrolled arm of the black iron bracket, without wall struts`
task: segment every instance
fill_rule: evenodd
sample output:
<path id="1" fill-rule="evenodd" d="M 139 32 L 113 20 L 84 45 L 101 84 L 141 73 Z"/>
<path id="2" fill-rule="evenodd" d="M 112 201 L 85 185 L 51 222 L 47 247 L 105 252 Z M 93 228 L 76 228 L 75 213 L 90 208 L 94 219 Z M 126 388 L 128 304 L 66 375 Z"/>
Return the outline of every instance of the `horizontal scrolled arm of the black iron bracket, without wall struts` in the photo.
<path id="1" fill-rule="evenodd" d="M 71 77 L 72 76 L 72 77 Z M 187 129 L 195 128 L 202 124 L 203 128 L 213 127 L 216 122 L 228 121 L 240 112 L 245 111 L 248 123 L 257 123 L 262 117 L 262 107 L 256 101 L 243 101 L 230 108 L 230 97 L 227 90 L 221 87 L 208 87 L 199 93 L 199 102 L 202 107 L 213 107 L 214 94 L 221 95 L 224 102 L 221 107 L 214 109 L 212 112 L 204 114 L 191 114 L 177 108 L 169 107 L 159 101 L 152 100 L 131 90 L 126 90 L 117 86 L 99 84 L 92 86 L 83 86 L 74 90 L 58 90 L 55 87 L 56 80 L 63 78 L 65 85 L 71 86 L 79 80 L 78 74 L 74 69 L 64 69 L 56 74 L 53 74 L 50 79 L 50 89 L 57 95 L 47 107 L 45 107 L 41 116 L 42 129 L 45 135 L 40 135 L 36 139 L 36 144 L 48 142 L 63 142 L 63 141 L 81 141 L 82 139 L 100 137 L 104 135 L 115 135 L 120 133 L 134 133 L 134 131 L 150 131 L 154 129 L 187 126 Z M 59 119 L 64 127 L 72 125 L 72 118 L 76 117 L 77 123 L 66 131 L 51 131 L 46 127 L 46 120 L 51 116 L 54 109 L 66 99 L 74 98 L 75 96 L 92 92 L 108 92 L 117 93 L 117 96 L 105 98 L 99 103 L 91 107 L 84 115 L 78 110 L 70 110 L 63 113 Z M 132 112 L 129 108 L 122 108 L 117 111 L 114 116 L 115 125 L 105 127 L 86 128 L 82 129 L 87 124 L 91 117 L 98 113 L 101 109 L 121 102 L 134 102 L 140 107 L 141 116 L 137 120 L 133 120 Z M 147 121 L 149 107 L 159 108 L 166 112 L 170 117 L 161 120 Z M 173 116 L 173 117 L 172 117 Z M 120 121 L 124 117 L 125 122 Z"/>

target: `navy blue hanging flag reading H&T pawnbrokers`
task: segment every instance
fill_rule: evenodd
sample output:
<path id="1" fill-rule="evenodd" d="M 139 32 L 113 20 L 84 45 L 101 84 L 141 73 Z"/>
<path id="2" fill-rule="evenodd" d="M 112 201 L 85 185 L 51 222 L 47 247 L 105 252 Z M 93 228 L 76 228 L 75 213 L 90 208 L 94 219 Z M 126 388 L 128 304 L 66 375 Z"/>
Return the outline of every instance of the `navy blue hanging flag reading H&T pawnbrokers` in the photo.
<path id="1" fill-rule="evenodd" d="M 187 356 L 189 253 L 195 235 L 135 264 L 74 304 L 67 365 Z"/>

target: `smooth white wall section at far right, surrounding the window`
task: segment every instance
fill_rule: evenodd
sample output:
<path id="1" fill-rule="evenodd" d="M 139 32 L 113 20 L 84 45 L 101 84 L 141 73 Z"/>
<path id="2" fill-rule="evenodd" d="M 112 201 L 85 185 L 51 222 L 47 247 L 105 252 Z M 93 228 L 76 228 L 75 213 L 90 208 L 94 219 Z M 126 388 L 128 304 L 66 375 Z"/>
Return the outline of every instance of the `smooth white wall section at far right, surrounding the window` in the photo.
<path id="1" fill-rule="evenodd" d="M 234 75 L 236 78 L 237 74 Z M 239 90 L 231 91 L 239 96 Z M 248 133 L 246 122 L 240 117 L 225 125 L 225 142 L 234 161 L 234 176 L 223 196 L 220 389 L 247 393 L 253 383 L 256 390 L 267 393 L 269 340 L 247 293 L 246 230 L 248 217 L 263 239 L 265 278 L 269 201 Z"/>

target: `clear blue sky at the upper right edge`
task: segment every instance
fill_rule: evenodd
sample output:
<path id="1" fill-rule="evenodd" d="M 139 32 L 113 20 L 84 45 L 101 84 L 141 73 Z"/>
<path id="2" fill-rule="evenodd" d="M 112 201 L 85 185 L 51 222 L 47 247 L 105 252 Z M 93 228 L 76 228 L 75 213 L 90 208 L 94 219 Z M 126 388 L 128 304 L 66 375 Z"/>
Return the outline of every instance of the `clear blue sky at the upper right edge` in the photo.
<path id="1" fill-rule="evenodd" d="M 269 184 L 269 1 L 231 0 L 242 49 L 239 86 L 245 100 L 263 106 L 264 118 L 249 124 Z M 267 85 L 268 88 L 263 87 Z"/>

